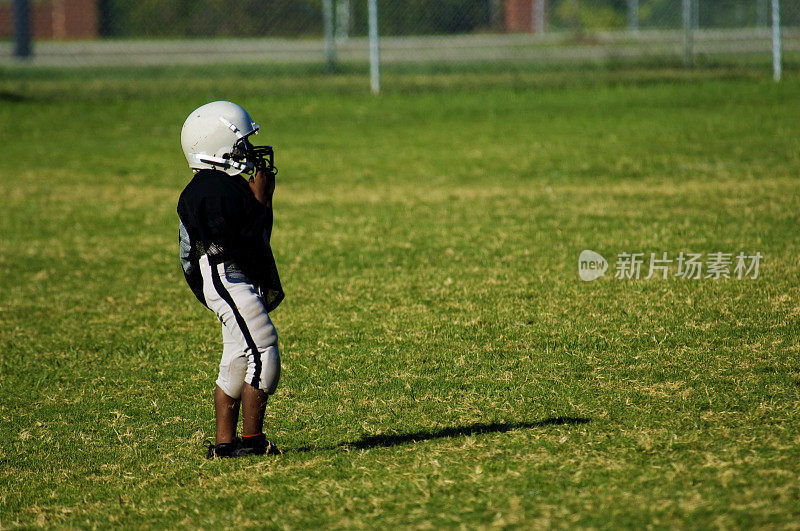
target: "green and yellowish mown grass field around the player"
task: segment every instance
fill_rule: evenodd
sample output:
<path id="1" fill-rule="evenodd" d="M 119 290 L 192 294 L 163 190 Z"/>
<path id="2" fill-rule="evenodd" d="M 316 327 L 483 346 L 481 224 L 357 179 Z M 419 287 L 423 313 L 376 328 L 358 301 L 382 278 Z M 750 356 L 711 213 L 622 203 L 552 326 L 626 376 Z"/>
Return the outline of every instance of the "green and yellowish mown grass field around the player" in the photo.
<path id="1" fill-rule="evenodd" d="M 2 74 L 0 527 L 800 527 L 797 77 Z M 201 444 L 175 204 L 212 98 L 280 168 L 274 458 Z M 764 258 L 613 278 L 681 251 Z"/>

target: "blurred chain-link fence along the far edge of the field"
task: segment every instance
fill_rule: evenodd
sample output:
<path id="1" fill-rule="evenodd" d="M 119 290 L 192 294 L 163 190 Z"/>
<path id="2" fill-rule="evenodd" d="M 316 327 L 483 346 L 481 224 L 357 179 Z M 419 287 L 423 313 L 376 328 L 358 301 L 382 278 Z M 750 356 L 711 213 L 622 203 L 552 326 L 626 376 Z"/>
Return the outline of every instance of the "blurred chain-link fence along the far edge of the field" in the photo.
<path id="1" fill-rule="evenodd" d="M 257 63 L 364 68 L 371 0 L 0 0 L 0 64 Z M 800 0 L 377 0 L 384 69 L 772 65 L 800 49 Z M 20 34 L 28 13 L 32 45 Z M 16 11 L 16 15 L 15 15 Z M 779 20 L 780 32 L 773 32 Z M 24 24 L 23 24 L 24 26 Z M 24 31 L 25 28 L 22 28 Z M 776 43 L 776 37 L 780 37 Z M 27 58 L 20 59 L 19 55 Z M 16 52 L 16 55 L 15 55 Z"/>

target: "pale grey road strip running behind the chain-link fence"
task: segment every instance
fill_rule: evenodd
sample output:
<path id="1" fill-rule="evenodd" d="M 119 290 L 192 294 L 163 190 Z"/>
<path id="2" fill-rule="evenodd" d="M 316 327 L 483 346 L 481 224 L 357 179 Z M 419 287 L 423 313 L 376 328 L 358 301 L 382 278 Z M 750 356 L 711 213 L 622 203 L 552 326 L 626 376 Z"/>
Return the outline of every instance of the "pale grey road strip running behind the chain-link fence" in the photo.
<path id="1" fill-rule="evenodd" d="M 783 50 L 800 52 L 800 28 L 785 28 Z M 681 30 L 640 30 L 598 32 L 590 43 L 576 41 L 568 33 L 528 35 L 454 35 L 383 37 L 381 63 L 449 63 L 470 65 L 481 62 L 548 63 L 579 62 L 614 58 L 681 58 L 684 54 Z M 36 43 L 35 55 L 26 63 L 38 66 L 141 66 L 228 64 L 321 63 L 326 57 L 322 39 L 181 39 L 181 40 L 98 40 Z M 693 54 L 725 56 L 744 61 L 747 55 L 760 54 L 769 64 L 772 33 L 769 29 L 697 30 Z M 10 42 L 0 43 L 4 64 L 18 64 Z M 353 37 L 336 46 L 336 61 L 366 64 L 369 42 Z"/>

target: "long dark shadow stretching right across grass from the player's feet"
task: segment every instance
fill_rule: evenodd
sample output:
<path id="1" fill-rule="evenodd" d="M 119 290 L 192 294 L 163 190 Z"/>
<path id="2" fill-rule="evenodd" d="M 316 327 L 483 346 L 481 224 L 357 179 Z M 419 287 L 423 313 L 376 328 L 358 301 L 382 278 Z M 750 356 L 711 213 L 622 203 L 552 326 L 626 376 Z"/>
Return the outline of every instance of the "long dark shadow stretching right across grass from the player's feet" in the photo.
<path id="1" fill-rule="evenodd" d="M 467 435 L 482 435 L 487 433 L 505 433 L 513 430 L 528 430 L 546 426 L 578 425 L 589 422 L 584 417 L 550 417 L 536 422 L 493 422 L 491 424 L 477 423 L 469 426 L 453 426 L 439 430 L 417 431 L 413 433 L 398 433 L 395 435 L 364 435 L 353 442 L 339 443 L 333 447 L 306 446 L 294 450 L 295 452 L 310 452 L 318 450 L 356 449 L 367 450 L 370 448 L 389 448 L 400 444 L 409 444 L 434 439 L 463 437 Z M 289 450 L 292 451 L 292 450 Z"/>

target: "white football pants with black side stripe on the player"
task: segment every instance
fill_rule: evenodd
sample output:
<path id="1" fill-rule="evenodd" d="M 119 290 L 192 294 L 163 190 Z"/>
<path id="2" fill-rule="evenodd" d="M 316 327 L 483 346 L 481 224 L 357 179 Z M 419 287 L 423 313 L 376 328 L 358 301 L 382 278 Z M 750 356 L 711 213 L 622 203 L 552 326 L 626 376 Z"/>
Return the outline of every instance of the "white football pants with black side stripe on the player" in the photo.
<path id="1" fill-rule="evenodd" d="M 281 377 L 278 334 L 258 287 L 230 262 L 211 265 L 207 255 L 200 259 L 200 271 L 206 304 L 222 322 L 217 385 L 235 399 L 244 382 L 274 393 Z"/>

